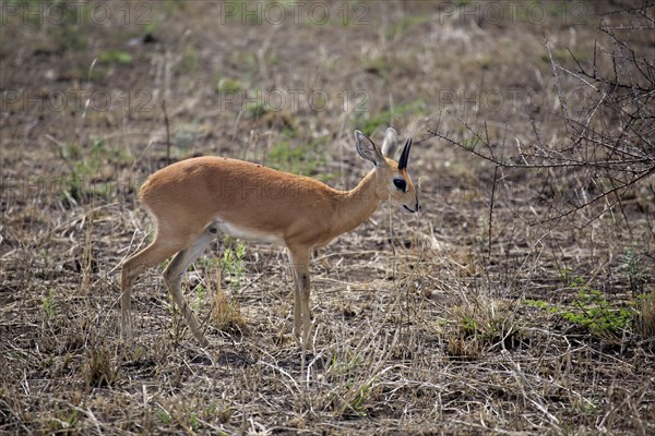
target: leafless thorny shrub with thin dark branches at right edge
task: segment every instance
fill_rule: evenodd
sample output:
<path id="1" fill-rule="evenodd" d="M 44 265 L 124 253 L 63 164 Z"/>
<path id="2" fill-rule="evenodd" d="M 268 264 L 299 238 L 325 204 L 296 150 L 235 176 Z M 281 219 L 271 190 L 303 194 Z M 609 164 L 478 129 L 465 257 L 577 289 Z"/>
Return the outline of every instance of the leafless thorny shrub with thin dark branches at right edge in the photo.
<path id="1" fill-rule="evenodd" d="M 546 205 L 548 213 L 524 218 L 531 225 L 561 220 L 583 209 L 593 210 L 583 226 L 615 211 L 629 225 L 628 202 L 655 213 L 655 58 L 647 43 L 655 27 L 654 10 L 650 3 L 603 15 L 591 61 L 570 51 L 576 69 L 560 64 L 546 43 L 564 140 L 546 140 L 533 116 L 529 140 L 497 142 L 486 123 L 475 126 L 467 121 L 461 121 L 462 137 L 431 131 L 496 166 L 491 208 L 501 197 L 516 208 L 515 194 L 523 181 L 536 179 L 545 183 L 534 183 L 532 198 Z M 547 108 L 525 109 L 534 113 Z M 521 182 L 512 185 L 517 174 L 523 174 Z"/>

